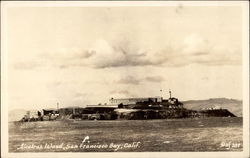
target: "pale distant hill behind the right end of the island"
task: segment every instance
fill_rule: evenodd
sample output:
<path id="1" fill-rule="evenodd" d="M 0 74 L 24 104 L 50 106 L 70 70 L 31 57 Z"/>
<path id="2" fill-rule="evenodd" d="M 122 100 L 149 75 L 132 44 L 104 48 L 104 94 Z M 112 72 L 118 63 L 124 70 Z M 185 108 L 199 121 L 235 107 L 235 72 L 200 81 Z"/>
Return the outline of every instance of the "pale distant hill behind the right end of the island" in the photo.
<path id="1" fill-rule="evenodd" d="M 238 117 L 242 117 L 242 101 L 227 98 L 212 98 L 207 100 L 188 100 L 183 101 L 184 107 L 192 110 L 201 110 L 203 108 L 221 107 L 228 109 L 231 113 Z"/>

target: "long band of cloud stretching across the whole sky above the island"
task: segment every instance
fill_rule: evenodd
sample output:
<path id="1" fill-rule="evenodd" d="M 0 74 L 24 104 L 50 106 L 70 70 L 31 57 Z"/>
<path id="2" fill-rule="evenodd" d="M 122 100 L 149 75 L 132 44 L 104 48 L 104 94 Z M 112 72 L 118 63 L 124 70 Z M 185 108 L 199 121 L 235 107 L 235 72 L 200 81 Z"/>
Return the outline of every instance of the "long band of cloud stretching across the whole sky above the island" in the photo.
<path id="1" fill-rule="evenodd" d="M 57 52 L 43 53 L 33 61 L 20 62 L 17 69 L 37 67 L 91 67 L 96 69 L 135 67 L 135 66 L 169 66 L 181 67 L 197 63 L 203 65 L 239 65 L 240 48 L 229 49 L 218 46 L 199 34 L 191 33 L 184 37 L 183 43 L 158 49 L 147 49 L 130 42 L 110 44 L 98 39 L 87 49 L 62 49 Z"/>

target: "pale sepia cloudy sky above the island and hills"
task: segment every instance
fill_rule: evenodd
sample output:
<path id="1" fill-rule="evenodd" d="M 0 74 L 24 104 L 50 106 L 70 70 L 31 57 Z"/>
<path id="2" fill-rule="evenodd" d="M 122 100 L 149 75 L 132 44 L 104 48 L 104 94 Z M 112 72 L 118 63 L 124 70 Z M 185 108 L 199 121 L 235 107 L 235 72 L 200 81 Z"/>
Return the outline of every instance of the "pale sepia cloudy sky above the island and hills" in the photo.
<path id="1" fill-rule="evenodd" d="M 183 101 L 242 100 L 241 18 L 236 6 L 9 7 L 9 109 L 169 89 Z"/>

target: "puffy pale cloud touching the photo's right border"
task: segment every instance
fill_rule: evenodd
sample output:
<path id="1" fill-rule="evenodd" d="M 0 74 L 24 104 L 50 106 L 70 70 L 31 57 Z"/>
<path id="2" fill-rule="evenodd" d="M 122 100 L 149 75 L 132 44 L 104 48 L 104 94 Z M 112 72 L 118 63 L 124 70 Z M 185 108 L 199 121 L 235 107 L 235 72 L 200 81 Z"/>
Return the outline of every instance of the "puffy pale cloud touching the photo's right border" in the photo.
<path id="1" fill-rule="evenodd" d="M 240 48 L 214 45 L 198 34 L 191 34 L 184 40 L 183 56 L 188 63 L 203 65 L 239 65 Z"/>

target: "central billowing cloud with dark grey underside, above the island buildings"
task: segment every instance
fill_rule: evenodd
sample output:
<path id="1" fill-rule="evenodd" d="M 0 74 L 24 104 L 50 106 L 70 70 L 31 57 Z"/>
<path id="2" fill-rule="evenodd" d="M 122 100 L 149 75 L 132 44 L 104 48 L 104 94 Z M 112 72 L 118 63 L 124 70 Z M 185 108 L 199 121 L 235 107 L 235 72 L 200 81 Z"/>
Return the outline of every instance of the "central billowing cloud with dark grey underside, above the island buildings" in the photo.
<path id="1" fill-rule="evenodd" d="M 149 53 L 126 44 L 112 46 L 102 39 L 97 40 L 90 51 L 95 52 L 95 55 L 87 63 L 95 68 L 160 65 L 164 61 L 158 52 Z"/>

